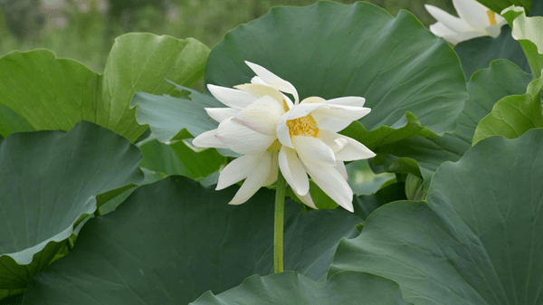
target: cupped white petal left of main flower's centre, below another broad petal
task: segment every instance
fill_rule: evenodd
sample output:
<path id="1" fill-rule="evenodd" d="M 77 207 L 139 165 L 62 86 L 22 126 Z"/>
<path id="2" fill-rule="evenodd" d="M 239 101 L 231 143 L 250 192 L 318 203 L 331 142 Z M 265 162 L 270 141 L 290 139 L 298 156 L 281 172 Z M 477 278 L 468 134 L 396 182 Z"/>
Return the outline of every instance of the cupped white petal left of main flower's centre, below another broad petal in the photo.
<path id="1" fill-rule="evenodd" d="M 274 136 L 260 133 L 239 124 L 232 119 L 224 119 L 215 134 L 227 148 L 242 155 L 260 154 L 275 140 Z"/>

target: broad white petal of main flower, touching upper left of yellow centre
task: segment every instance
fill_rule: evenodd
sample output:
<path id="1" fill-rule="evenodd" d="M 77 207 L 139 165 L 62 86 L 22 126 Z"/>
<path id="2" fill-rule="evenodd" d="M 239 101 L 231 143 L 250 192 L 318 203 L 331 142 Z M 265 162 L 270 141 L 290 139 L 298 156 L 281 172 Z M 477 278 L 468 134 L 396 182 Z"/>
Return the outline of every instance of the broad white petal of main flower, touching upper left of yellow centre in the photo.
<path id="1" fill-rule="evenodd" d="M 277 120 L 284 113 L 277 100 L 264 95 L 240 111 L 233 120 L 266 135 L 277 134 Z"/>

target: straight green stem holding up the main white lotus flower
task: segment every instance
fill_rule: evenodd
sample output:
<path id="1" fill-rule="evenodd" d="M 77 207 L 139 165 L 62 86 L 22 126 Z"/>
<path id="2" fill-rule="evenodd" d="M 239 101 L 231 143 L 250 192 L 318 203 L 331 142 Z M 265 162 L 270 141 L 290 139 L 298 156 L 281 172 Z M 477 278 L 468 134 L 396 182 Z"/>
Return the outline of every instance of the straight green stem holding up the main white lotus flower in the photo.
<path id="1" fill-rule="evenodd" d="M 287 183 L 281 175 L 277 176 L 275 189 L 275 225 L 273 228 L 273 266 L 275 273 L 283 272 L 283 226 L 285 216 L 285 187 Z"/>

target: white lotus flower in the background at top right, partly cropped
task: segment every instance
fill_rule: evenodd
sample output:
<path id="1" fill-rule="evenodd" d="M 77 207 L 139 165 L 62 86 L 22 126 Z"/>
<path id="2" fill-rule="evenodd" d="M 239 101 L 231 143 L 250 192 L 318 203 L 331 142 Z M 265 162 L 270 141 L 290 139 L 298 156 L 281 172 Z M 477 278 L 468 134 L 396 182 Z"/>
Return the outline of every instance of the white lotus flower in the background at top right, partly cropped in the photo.
<path id="1" fill-rule="evenodd" d="M 475 0 L 452 0 L 459 17 L 455 17 L 433 5 L 424 5 L 437 23 L 430 25 L 430 31 L 457 44 L 475 37 L 500 36 L 501 26 L 507 21 Z"/>

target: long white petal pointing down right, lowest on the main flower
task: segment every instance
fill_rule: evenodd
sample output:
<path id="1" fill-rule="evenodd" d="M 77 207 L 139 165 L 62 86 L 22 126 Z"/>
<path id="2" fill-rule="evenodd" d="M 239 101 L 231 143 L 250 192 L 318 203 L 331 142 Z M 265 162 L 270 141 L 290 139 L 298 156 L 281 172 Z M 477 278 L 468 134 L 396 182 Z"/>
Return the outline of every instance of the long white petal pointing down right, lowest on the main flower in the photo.
<path id="1" fill-rule="evenodd" d="M 353 212 L 353 191 L 345 178 L 334 167 L 302 159 L 310 177 L 326 195 L 329 195 L 338 205 Z"/>

